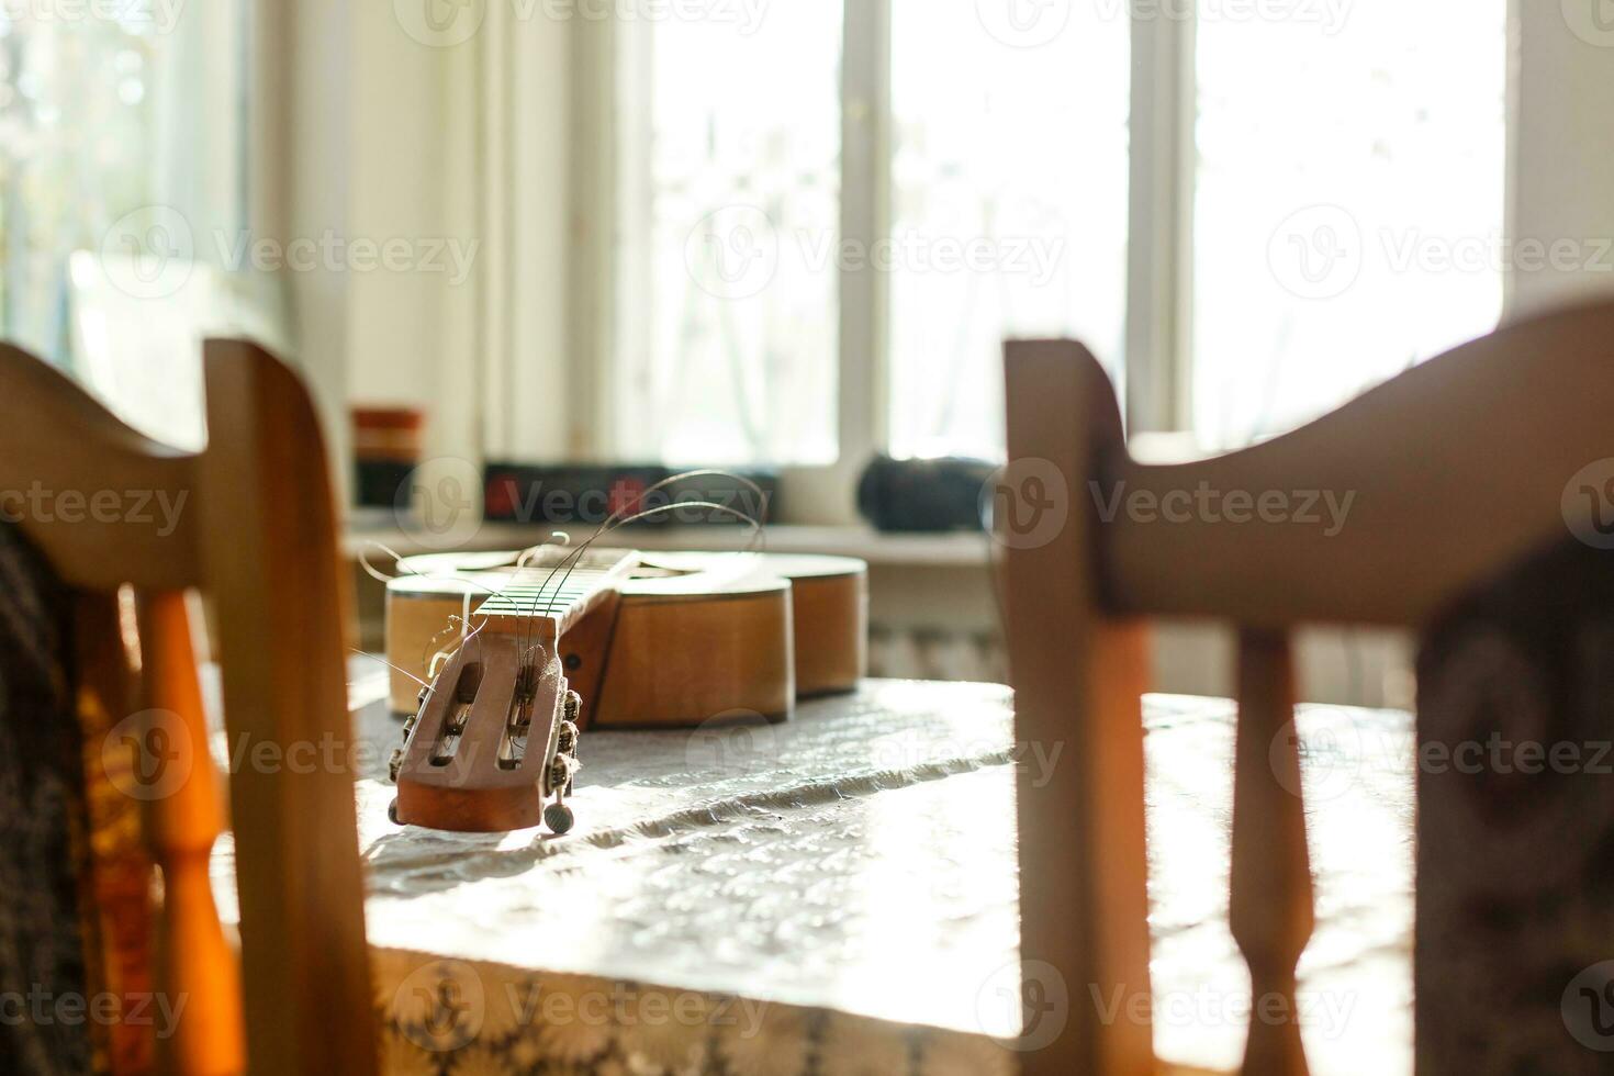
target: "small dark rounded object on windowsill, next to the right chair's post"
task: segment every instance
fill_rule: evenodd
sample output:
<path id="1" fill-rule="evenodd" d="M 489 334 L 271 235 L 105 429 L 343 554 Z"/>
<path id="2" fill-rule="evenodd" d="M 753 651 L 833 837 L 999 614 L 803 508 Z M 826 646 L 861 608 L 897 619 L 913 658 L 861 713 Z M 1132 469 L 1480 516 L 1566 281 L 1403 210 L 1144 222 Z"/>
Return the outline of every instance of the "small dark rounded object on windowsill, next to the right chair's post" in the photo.
<path id="1" fill-rule="evenodd" d="M 875 457 L 857 482 L 857 510 L 878 531 L 980 531 L 981 490 L 996 469 L 985 460 Z"/>

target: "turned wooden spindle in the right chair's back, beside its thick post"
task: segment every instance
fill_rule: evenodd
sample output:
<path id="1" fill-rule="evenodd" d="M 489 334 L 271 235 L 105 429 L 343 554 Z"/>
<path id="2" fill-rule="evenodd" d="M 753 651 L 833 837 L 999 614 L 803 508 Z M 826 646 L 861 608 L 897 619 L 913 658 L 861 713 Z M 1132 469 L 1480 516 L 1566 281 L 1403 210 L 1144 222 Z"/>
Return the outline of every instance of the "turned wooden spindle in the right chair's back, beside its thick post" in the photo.
<path id="1" fill-rule="evenodd" d="M 1294 965 L 1312 932 L 1311 855 L 1294 734 L 1294 673 L 1283 632 L 1238 637 L 1238 747 L 1228 921 L 1251 979 L 1243 1071 L 1304 1076 Z"/>

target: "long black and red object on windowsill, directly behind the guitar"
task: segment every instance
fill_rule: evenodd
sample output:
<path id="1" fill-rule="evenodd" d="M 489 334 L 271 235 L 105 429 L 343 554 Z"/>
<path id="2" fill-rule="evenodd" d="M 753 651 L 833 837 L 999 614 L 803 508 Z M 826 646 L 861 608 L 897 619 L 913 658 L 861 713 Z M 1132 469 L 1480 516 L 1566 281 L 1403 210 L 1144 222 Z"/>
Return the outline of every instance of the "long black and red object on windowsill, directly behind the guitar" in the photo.
<path id="1" fill-rule="evenodd" d="M 483 515 L 489 523 L 542 523 L 547 526 L 597 526 L 615 511 L 634 515 L 663 508 L 629 526 L 739 524 L 744 513 L 767 523 L 778 515 L 776 471 L 733 469 L 760 490 L 726 474 L 700 474 L 649 492 L 684 471 L 657 465 L 526 465 L 489 463 L 483 469 Z M 697 502 L 723 505 L 725 510 Z"/>

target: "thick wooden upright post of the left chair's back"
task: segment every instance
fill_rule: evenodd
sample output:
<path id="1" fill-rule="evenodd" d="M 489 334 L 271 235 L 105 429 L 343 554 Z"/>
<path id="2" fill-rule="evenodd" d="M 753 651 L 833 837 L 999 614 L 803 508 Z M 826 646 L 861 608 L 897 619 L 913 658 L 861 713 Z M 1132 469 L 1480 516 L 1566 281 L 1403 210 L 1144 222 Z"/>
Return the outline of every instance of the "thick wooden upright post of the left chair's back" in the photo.
<path id="1" fill-rule="evenodd" d="M 229 774 L 240 961 L 253 1073 L 371 1076 L 376 1028 L 365 944 L 347 716 L 347 586 L 324 440 L 297 374 L 258 347 L 208 340 L 199 505 L 218 611 L 224 726 L 313 766 Z M 324 760 L 331 760 L 326 763 Z"/>

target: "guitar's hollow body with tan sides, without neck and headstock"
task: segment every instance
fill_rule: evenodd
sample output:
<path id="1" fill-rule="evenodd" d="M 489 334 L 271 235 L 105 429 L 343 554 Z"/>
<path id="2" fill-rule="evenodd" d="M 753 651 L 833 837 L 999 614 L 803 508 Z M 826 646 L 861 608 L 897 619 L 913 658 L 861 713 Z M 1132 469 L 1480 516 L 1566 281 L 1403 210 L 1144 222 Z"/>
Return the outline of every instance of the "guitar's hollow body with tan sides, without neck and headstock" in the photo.
<path id="1" fill-rule="evenodd" d="M 405 574 L 387 584 L 394 710 L 416 708 L 408 674 L 433 679 L 434 657 L 458 645 L 489 592 L 508 592 L 534 573 L 518 571 L 515 560 L 449 553 L 400 565 Z M 863 561 L 644 553 L 560 632 L 557 647 L 581 697 L 579 728 L 692 728 L 783 721 L 797 697 L 851 690 L 867 668 L 867 628 Z"/>

